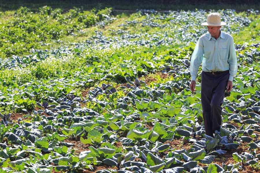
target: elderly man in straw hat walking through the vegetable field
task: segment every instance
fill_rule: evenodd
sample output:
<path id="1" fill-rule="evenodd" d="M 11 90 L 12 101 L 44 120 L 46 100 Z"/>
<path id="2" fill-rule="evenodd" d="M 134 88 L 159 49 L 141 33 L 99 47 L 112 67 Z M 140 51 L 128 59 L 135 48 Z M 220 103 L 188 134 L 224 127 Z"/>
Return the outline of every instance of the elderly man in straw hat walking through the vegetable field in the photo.
<path id="1" fill-rule="evenodd" d="M 190 90 L 195 91 L 196 77 L 200 64 L 201 73 L 201 105 L 206 135 L 214 137 L 222 124 L 222 103 L 225 90 L 231 91 L 233 78 L 237 74 L 237 57 L 233 37 L 221 31 L 218 13 L 210 13 L 207 22 L 208 33 L 203 34 L 194 49 L 190 64 Z"/>

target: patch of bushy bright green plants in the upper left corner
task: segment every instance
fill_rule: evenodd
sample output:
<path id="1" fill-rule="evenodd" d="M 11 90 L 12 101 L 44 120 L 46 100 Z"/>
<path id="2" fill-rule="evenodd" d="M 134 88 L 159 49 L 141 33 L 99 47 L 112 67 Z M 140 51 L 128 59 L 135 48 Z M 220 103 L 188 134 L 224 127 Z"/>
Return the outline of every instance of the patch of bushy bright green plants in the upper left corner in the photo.
<path id="1" fill-rule="evenodd" d="M 110 14 L 109 8 L 97 13 L 80 9 L 64 13 L 61 9 L 44 6 L 34 13 L 27 7 L 20 7 L 11 17 L 0 20 L 0 37 L 3 39 L 0 58 L 38 49 L 51 40 L 93 26 Z"/>

